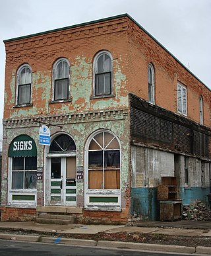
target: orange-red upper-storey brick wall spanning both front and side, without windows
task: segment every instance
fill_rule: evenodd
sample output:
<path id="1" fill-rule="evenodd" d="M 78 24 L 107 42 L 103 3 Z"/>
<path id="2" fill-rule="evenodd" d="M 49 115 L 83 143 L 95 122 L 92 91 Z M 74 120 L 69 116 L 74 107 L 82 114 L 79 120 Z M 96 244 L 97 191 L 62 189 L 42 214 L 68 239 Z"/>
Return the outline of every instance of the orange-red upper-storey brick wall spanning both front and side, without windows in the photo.
<path id="1" fill-rule="evenodd" d="M 46 97 L 42 97 L 42 95 L 45 95 L 47 87 L 51 88 L 51 72 L 55 60 L 61 57 L 67 58 L 71 67 L 77 67 L 82 59 L 90 64 L 88 79 L 90 79 L 90 87 L 92 87 L 94 56 L 100 50 L 108 50 L 113 55 L 114 74 L 118 69 L 121 69 L 121 73 L 127 75 L 127 87 L 126 83 L 122 83 L 121 90 L 116 91 L 114 83 L 114 92 L 117 97 L 113 101 L 119 102 L 119 107 L 123 104 L 119 101 L 119 97 L 125 96 L 129 92 L 142 99 L 148 99 L 147 68 L 148 64 L 152 62 L 155 69 L 156 105 L 177 112 L 177 81 L 179 81 L 187 87 L 188 117 L 200 122 L 199 98 L 202 95 L 204 99 L 204 125 L 211 126 L 210 90 L 127 17 L 49 32 L 32 38 L 22 38 L 7 42 L 5 46 L 7 52 L 5 80 L 7 102 L 4 118 L 9 118 L 12 113 L 19 115 L 20 110 L 13 108 L 13 106 L 15 105 L 16 70 L 20 65 L 28 63 L 32 66 L 35 85 L 32 87 L 33 109 L 36 109 L 37 114 L 41 112 L 46 114 L 46 105 L 49 105 L 49 101 L 51 101 L 51 89 Z M 72 83 L 71 90 L 75 90 L 80 81 L 87 78 L 80 77 L 80 71 L 78 73 L 79 76 L 76 77 L 78 83 Z M 42 85 L 36 89 L 36 85 L 42 83 L 45 83 L 45 86 Z M 91 92 L 91 88 L 89 90 Z M 91 110 L 96 101 L 98 100 L 91 99 L 90 105 L 86 105 L 86 110 Z M 81 104 L 83 102 L 84 99 L 79 98 L 74 105 L 69 103 L 62 103 L 62 105 L 68 105 L 70 111 L 84 110 Z M 59 103 L 50 104 L 49 112 L 55 109 L 60 111 L 62 105 Z M 24 108 L 26 111 L 30 109 L 32 107 Z M 30 111 L 28 115 L 30 115 Z"/>

